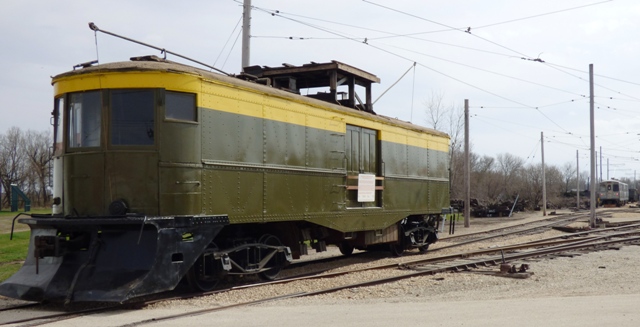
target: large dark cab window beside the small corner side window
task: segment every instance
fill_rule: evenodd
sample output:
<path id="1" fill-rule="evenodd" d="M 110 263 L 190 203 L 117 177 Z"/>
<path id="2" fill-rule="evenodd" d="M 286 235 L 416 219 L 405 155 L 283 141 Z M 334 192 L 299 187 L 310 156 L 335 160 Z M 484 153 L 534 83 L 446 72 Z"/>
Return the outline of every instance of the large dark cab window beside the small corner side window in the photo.
<path id="1" fill-rule="evenodd" d="M 111 144 L 153 145 L 155 92 L 111 91 Z"/>

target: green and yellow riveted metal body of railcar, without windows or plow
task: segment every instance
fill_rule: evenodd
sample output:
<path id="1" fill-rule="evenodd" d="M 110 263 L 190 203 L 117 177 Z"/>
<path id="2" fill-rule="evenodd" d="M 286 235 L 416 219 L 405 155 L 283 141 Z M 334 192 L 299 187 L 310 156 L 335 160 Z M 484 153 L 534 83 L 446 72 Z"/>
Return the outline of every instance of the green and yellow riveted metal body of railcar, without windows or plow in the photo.
<path id="1" fill-rule="evenodd" d="M 231 224 L 309 221 L 352 232 L 449 206 L 449 140 L 434 130 L 169 63 L 100 65 L 53 84 L 56 97 L 99 85 L 103 117 L 112 90 L 145 90 L 155 102 L 152 144 L 110 144 L 107 132 L 95 151 L 65 156 L 65 214 L 106 215 L 125 199 L 146 215 L 224 213 Z M 195 96 L 194 121 L 167 118 L 168 91 Z M 108 120 L 102 126 L 110 131 Z M 361 172 L 384 178 L 373 203 L 357 203 L 347 187 Z"/>

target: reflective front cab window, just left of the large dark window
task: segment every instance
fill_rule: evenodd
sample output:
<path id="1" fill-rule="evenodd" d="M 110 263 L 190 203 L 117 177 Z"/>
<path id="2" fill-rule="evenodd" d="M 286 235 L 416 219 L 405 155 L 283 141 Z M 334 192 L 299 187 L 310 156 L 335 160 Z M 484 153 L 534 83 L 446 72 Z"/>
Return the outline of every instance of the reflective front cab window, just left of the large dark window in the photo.
<path id="1" fill-rule="evenodd" d="M 73 93 L 69 97 L 69 148 L 100 146 L 100 92 Z"/>

